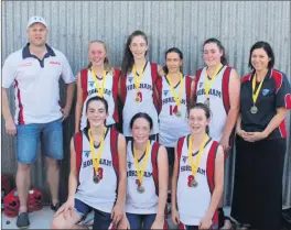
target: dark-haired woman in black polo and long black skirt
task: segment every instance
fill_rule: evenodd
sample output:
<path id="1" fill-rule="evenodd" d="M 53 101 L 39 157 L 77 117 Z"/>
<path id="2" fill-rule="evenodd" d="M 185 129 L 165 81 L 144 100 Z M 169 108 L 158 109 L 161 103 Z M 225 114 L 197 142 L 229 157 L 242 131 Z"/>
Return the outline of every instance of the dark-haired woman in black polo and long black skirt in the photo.
<path id="1" fill-rule="evenodd" d="M 287 76 L 274 69 L 267 42 L 252 45 L 251 73 L 241 81 L 231 217 L 251 229 L 280 229 L 287 149 L 284 118 L 291 109 Z"/>

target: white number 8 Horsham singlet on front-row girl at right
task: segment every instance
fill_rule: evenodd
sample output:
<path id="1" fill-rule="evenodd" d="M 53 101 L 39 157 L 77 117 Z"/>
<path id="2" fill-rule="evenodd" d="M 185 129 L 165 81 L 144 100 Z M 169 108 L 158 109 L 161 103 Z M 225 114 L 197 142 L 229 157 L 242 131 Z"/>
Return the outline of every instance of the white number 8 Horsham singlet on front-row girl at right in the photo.
<path id="1" fill-rule="evenodd" d="M 186 226 L 198 226 L 211 205 L 212 194 L 207 182 L 207 157 L 213 143 L 209 139 L 204 147 L 195 180 L 197 187 L 192 187 L 194 178 L 188 160 L 188 141 L 185 138 L 180 158 L 179 178 L 177 178 L 177 207 L 180 220 Z M 193 162 L 196 162 L 198 151 L 193 153 Z"/>

